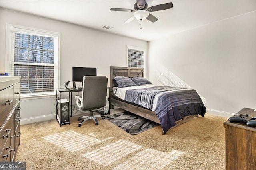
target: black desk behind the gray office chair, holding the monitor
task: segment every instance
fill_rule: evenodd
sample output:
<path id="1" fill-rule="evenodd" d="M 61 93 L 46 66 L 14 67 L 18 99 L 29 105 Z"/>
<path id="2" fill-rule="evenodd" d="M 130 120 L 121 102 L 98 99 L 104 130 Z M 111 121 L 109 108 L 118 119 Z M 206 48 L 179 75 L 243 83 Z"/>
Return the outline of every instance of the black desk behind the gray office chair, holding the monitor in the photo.
<path id="1" fill-rule="evenodd" d="M 110 87 L 107 87 L 108 90 L 108 114 L 110 114 Z M 70 89 L 65 89 L 65 88 L 58 88 L 56 89 L 56 120 L 58 123 L 61 125 L 64 124 L 70 124 L 70 119 L 68 121 L 63 122 L 62 117 L 58 115 L 58 109 L 61 110 L 61 93 L 69 93 L 68 97 L 68 112 L 70 117 L 72 117 L 72 93 L 73 92 L 82 92 L 82 89 L 75 89 L 75 88 L 70 88 Z M 58 97 L 59 94 L 59 97 Z M 59 102 L 60 101 L 60 102 Z M 58 104 L 60 103 L 60 104 Z"/>

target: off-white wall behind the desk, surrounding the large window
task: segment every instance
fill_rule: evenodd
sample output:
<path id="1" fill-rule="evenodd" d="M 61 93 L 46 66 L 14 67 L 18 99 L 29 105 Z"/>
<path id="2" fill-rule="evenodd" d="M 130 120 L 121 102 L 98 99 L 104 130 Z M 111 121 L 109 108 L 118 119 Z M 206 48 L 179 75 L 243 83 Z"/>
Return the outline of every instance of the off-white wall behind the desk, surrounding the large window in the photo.
<path id="1" fill-rule="evenodd" d="M 82 16 L 84 17 L 84 16 Z M 81 20 L 82 20 L 81 17 Z M 0 10 L 0 72 L 5 70 L 6 23 L 61 33 L 60 85 L 72 80 L 72 66 L 97 67 L 110 85 L 110 66 L 126 66 L 126 45 L 148 49 L 148 42 L 88 29 L 40 16 Z M 55 119 L 54 96 L 21 99 L 21 123 Z"/>

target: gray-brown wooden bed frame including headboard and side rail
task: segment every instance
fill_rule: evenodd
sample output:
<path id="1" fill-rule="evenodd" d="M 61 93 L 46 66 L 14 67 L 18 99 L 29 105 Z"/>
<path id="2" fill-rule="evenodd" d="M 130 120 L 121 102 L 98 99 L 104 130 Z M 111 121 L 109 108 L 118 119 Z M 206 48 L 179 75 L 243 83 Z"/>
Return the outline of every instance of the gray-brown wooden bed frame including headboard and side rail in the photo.
<path id="1" fill-rule="evenodd" d="M 121 109 L 124 109 L 126 111 L 129 111 L 131 113 L 134 113 L 136 115 L 139 115 L 141 117 L 144 117 L 146 119 L 149 119 L 151 121 L 154 121 L 156 123 L 160 124 L 160 121 L 158 117 L 156 116 L 156 113 L 154 111 L 151 111 L 149 109 L 145 109 L 142 107 L 134 106 L 132 104 L 129 104 L 127 102 L 124 102 L 122 100 L 118 100 L 117 98 L 114 98 L 113 96 L 113 87 L 115 87 L 115 84 L 113 82 L 113 78 L 116 76 L 124 76 L 124 77 L 144 77 L 144 68 L 134 68 L 134 67 L 110 67 L 110 108 L 114 108 L 114 106 L 117 106 Z M 177 127 L 189 120 L 191 120 L 194 117 L 198 117 L 198 114 L 196 115 L 189 115 L 184 117 L 181 120 L 176 121 L 176 125 L 174 127 Z M 170 129 L 174 128 L 171 127 Z M 162 134 L 164 132 L 162 131 Z"/>

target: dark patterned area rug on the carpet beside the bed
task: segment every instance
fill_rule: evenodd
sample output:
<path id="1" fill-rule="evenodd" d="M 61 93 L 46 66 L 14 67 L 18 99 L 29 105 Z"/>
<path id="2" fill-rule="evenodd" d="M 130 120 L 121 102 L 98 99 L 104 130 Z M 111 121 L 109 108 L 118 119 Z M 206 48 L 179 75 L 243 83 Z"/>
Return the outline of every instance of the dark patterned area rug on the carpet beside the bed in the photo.
<path id="1" fill-rule="evenodd" d="M 136 135 L 159 125 L 128 111 L 109 115 L 106 119 L 130 135 Z"/>

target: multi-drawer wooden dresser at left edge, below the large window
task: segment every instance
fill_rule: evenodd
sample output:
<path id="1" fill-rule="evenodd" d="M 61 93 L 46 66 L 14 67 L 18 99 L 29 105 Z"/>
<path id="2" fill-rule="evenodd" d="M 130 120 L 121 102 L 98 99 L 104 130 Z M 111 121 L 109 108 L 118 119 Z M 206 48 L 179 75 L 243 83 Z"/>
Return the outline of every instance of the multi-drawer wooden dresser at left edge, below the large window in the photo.
<path id="1" fill-rule="evenodd" d="M 20 133 L 20 76 L 0 76 L 0 162 L 15 161 Z"/>

